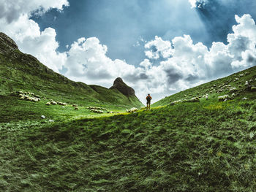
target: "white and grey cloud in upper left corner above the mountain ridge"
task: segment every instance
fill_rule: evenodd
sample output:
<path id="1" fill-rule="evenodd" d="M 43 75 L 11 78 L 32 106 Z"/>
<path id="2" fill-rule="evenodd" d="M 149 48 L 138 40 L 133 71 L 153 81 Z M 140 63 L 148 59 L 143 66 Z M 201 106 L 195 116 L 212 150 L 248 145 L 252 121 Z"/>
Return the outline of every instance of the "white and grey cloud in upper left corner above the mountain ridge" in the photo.
<path id="1" fill-rule="evenodd" d="M 59 53 L 56 31 L 53 28 L 40 28 L 34 20 L 29 19 L 31 12 L 46 12 L 48 9 L 62 9 L 68 6 L 67 0 L 58 1 L 7 1 L 0 0 L 0 31 L 4 32 L 18 44 L 24 53 L 34 55 L 43 64 L 59 72 L 66 61 L 66 53 Z"/>

